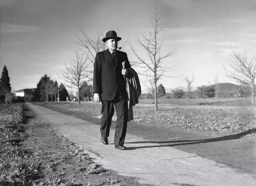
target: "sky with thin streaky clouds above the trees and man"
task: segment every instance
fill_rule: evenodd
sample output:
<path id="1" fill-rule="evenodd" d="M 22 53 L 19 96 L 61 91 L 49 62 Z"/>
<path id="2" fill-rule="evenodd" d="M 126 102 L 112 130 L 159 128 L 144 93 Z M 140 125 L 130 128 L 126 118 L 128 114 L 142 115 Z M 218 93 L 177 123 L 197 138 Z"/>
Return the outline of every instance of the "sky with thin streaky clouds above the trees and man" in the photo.
<path id="1" fill-rule="evenodd" d="M 173 65 L 166 75 L 179 76 L 160 80 L 166 89 L 185 86 L 184 76 L 192 73 L 194 87 L 214 83 L 216 75 L 219 82 L 236 83 L 223 70 L 230 45 L 249 58 L 255 54 L 255 0 L 0 0 L 0 7 L 0 69 L 7 65 L 12 90 L 36 87 L 44 74 L 65 83 L 57 73 L 74 57 L 77 25 L 92 38 L 97 28 L 115 30 L 119 46 L 131 42 L 144 58 L 136 39 L 152 29 L 155 7 L 165 30 L 161 54 L 178 49 L 164 61 Z M 121 50 L 129 49 L 125 44 Z"/>

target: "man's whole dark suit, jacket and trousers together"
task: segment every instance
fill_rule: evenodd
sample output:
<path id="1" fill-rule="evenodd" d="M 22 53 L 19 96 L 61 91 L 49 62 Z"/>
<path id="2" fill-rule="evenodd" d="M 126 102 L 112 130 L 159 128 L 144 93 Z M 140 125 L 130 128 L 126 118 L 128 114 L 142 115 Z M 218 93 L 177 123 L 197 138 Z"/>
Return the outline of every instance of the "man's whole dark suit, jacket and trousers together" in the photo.
<path id="1" fill-rule="evenodd" d="M 114 105 L 116 109 L 115 145 L 124 145 L 127 129 L 127 93 L 126 83 L 122 75 L 122 62 L 125 68 L 131 67 L 127 54 L 116 50 L 115 62 L 111 57 L 109 49 L 98 52 L 94 62 L 93 91 L 99 93 L 102 100 L 101 107 L 101 135 L 109 136 Z"/>

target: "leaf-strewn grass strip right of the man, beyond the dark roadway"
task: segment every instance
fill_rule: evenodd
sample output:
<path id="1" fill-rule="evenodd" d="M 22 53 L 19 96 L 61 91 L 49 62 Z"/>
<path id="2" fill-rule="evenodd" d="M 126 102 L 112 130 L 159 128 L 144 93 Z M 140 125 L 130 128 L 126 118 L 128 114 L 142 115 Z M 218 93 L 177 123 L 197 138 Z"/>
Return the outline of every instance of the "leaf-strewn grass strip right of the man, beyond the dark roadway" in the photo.
<path id="1" fill-rule="evenodd" d="M 136 107 L 133 122 L 158 124 L 159 127 L 179 126 L 186 129 L 240 133 L 256 128 L 255 114 L 247 110 Z M 149 114 L 150 113 L 150 114 Z"/>

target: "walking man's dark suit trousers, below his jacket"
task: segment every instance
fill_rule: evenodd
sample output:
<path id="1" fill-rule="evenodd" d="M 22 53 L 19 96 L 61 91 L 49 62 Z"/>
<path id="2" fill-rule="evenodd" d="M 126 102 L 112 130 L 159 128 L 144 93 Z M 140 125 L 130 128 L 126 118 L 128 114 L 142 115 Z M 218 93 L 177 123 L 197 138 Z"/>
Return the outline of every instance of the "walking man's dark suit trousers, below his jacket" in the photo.
<path id="1" fill-rule="evenodd" d="M 115 98 L 112 101 L 103 101 L 101 103 L 101 136 L 108 137 L 110 132 L 110 126 L 112 117 L 114 115 L 114 106 L 117 115 L 115 124 L 115 145 L 124 145 L 124 138 L 127 129 L 127 117 L 128 117 L 128 103 L 124 100 L 119 93 L 116 91 Z"/>

